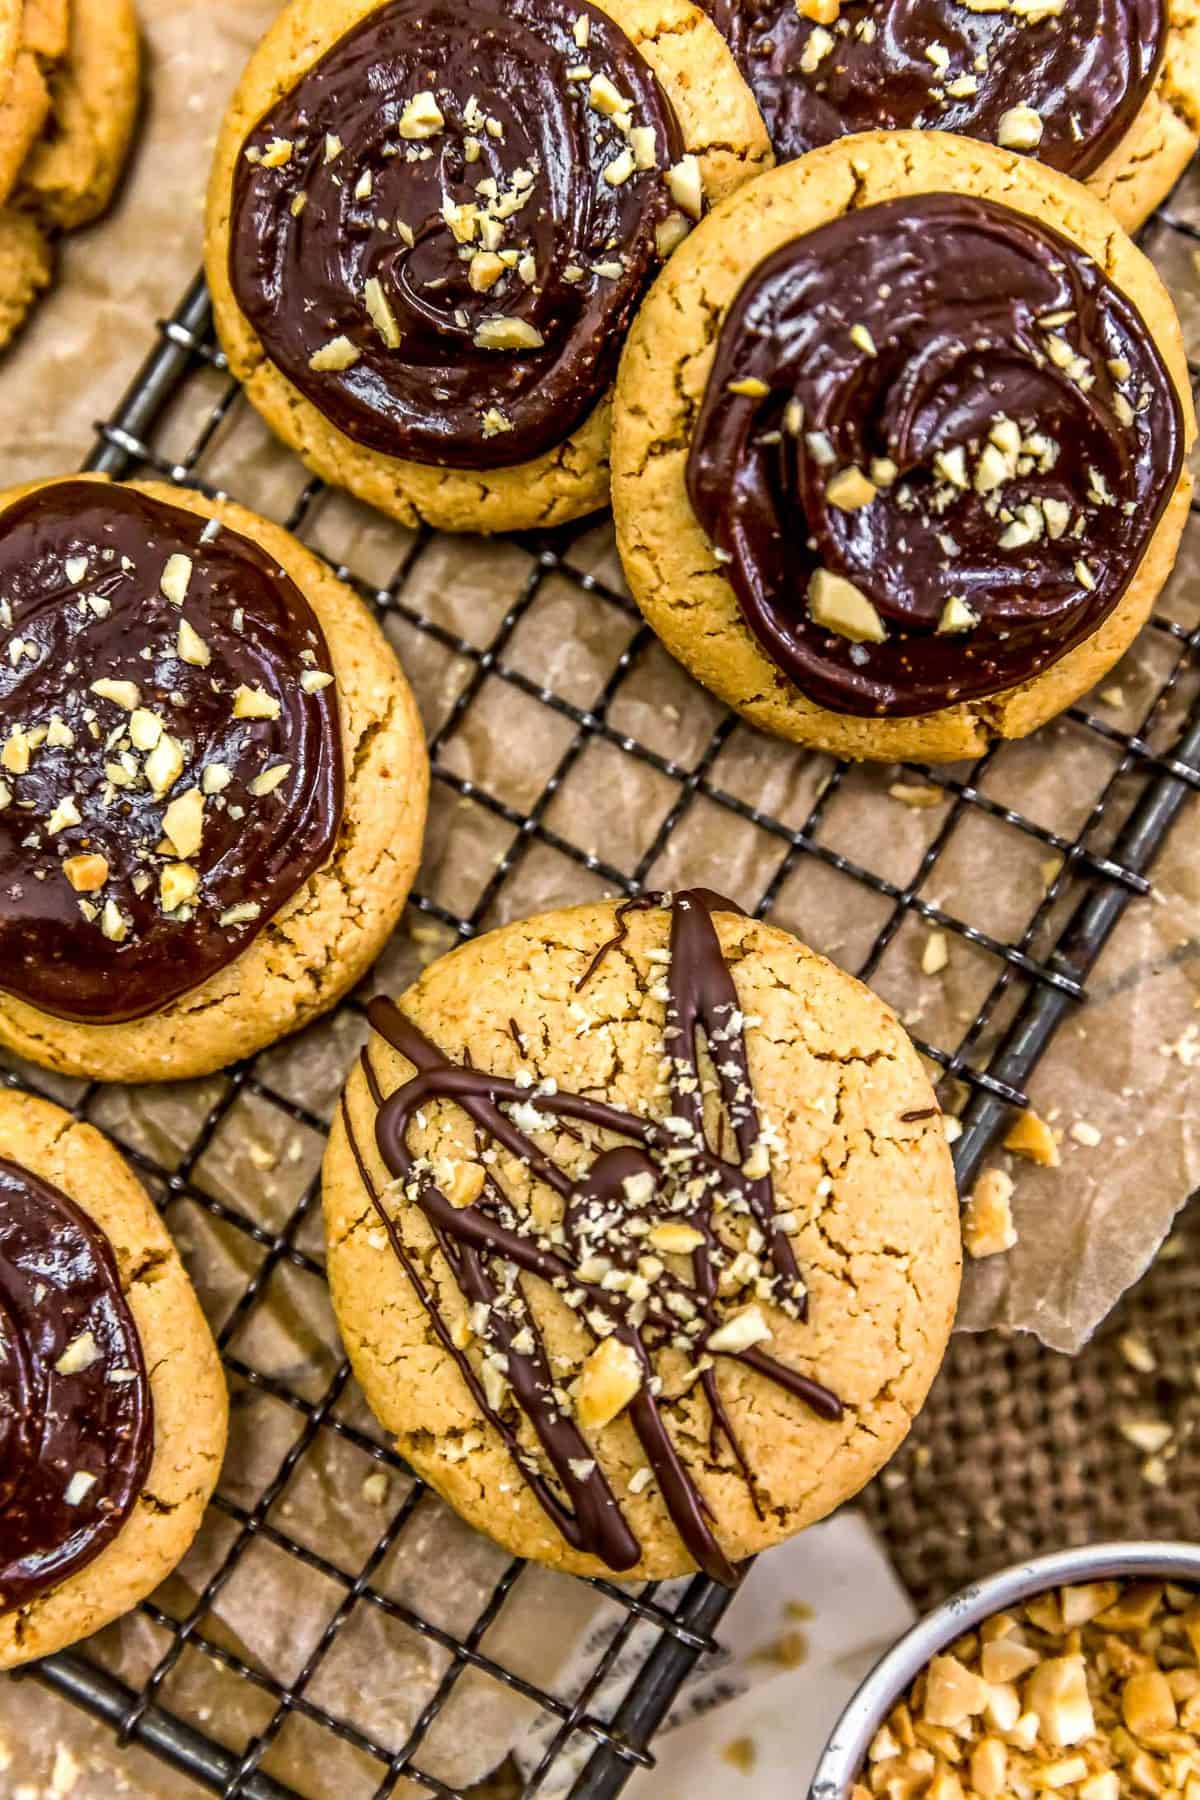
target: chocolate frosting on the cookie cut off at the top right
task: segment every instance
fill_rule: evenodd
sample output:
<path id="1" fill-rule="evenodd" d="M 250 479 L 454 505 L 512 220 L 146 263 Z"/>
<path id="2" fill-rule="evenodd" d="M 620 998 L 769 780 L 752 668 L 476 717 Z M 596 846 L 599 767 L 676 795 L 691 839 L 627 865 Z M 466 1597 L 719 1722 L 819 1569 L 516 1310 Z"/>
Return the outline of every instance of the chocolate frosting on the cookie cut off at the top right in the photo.
<path id="1" fill-rule="evenodd" d="M 1150 94 L 1164 0 L 702 0 L 781 160 L 847 131 L 959 131 L 1096 169 Z"/>

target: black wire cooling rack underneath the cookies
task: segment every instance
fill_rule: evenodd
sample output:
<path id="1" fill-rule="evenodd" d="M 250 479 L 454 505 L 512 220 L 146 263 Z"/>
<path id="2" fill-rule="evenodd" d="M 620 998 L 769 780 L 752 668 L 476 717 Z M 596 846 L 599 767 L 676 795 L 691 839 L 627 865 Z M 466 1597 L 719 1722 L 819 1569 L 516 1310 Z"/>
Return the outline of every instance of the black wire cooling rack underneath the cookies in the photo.
<path id="1" fill-rule="evenodd" d="M 1195 180 L 1195 171 L 1193 171 Z M 1200 230 L 1187 218 L 1189 202 L 1177 194 L 1177 211 L 1164 211 L 1151 223 L 1157 234 L 1153 254 L 1162 265 L 1173 263 L 1180 281 L 1195 277 L 1193 243 Z M 1200 202 L 1196 202 L 1200 218 Z M 1193 369 L 1193 385 L 1200 371 Z M 173 454 L 171 445 L 187 423 L 187 448 Z M 113 416 L 97 428 L 97 441 L 88 468 L 110 475 L 155 473 L 160 479 L 189 484 L 205 491 L 225 491 L 230 481 L 212 479 L 212 459 L 227 446 L 230 434 L 252 428 L 252 414 L 236 382 L 228 376 L 221 355 L 210 337 L 210 311 L 201 283 L 196 283 L 175 317 L 160 328 L 160 340 L 146 365 L 130 387 Z M 230 459 L 223 459 L 228 466 Z M 221 457 L 218 457 L 218 468 Z M 236 459 L 234 459 L 236 466 Z M 304 482 L 299 464 L 291 464 L 295 495 L 290 506 L 268 508 L 261 495 L 237 495 L 259 511 L 273 511 L 291 531 L 306 536 L 322 488 Z M 297 491 L 299 490 L 299 491 Z M 461 635 L 453 623 L 439 621 L 428 605 L 421 603 L 421 571 L 426 558 L 437 554 L 439 540 L 432 535 L 403 540 L 403 556 L 392 578 L 383 585 L 363 580 L 354 569 L 336 572 L 383 616 L 385 626 L 403 632 L 410 646 L 423 644 L 439 670 L 453 668 L 455 679 L 430 677 L 437 689 L 437 704 L 423 693 L 421 668 L 410 661 L 417 693 L 426 700 L 426 715 L 437 713 L 430 725 L 434 761 L 434 794 L 448 806 L 470 806 L 479 830 L 493 832 L 497 853 L 491 873 L 482 886 L 464 900 L 453 884 L 430 882 L 430 869 L 421 877 L 412 907 L 439 922 L 448 938 L 468 938 L 506 911 L 524 911 L 520 900 L 522 869 L 533 857 L 552 857 L 561 862 L 563 889 L 572 880 L 622 895 L 637 893 L 664 868 L 671 868 L 676 846 L 685 839 L 689 823 L 703 810 L 720 819 L 729 833 L 754 833 L 759 844 L 759 864 L 765 878 L 759 893 L 747 898 L 757 914 L 779 914 L 781 898 L 792 889 L 795 877 L 804 880 L 849 882 L 858 893 L 873 896 L 873 936 L 856 956 L 858 974 L 878 979 L 894 940 L 907 923 L 921 931 L 937 929 L 948 941 L 968 943 L 972 954 L 988 970 L 979 992 L 979 1004 L 968 1012 L 963 1030 L 943 1033 L 945 1042 L 918 1035 L 921 1051 L 936 1064 L 943 1078 L 943 1093 L 957 1093 L 963 1103 L 963 1132 L 955 1145 L 959 1183 L 968 1186 L 981 1159 L 995 1141 L 1011 1107 L 1024 1103 L 1024 1084 L 1042 1051 L 1051 1042 L 1065 1013 L 1087 999 L 1087 976 L 1124 907 L 1150 891 L 1148 866 L 1162 844 L 1171 823 L 1200 787 L 1200 684 L 1196 682 L 1196 650 L 1200 648 L 1200 608 L 1195 619 L 1175 616 L 1178 607 L 1160 607 L 1150 635 L 1155 646 L 1157 677 L 1146 704 L 1139 704 L 1137 720 L 1117 725 L 1088 707 L 1072 707 L 1065 725 L 1056 729 L 1083 738 L 1092 752 L 1081 756 L 1083 787 L 1087 794 L 1074 796 L 1070 821 L 1063 828 L 1045 823 L 1042 808 L 1031 796 L 1024 806 L 1013 805 L 1020 794 L 1011 781 L 995 781 L 997 760 L 1011 751 L 990 751 L 970 769 L 909 769 L 905 781 L 937 788 L 937 819 L 928 814 L 930 826 L 912 866 L 903 878 L 880 868 L 865 868 L 847 855 L 855 842 L 855 806 L 891 805 L 894 799 L 858 794 L 860 779 L 849 767 L 828 765 L 820 781 L 810 785 L 806 805 L 797 815 L 795 806 L 777 806 L 775 814 L 757 805 L 754 788 L 747 792 L 736 774 L 736 749 L 748 734 L 732 715 L 723 715 L 696 689 L 689 689 L 687 718 L 675 731 L 640 731 L 628 727 L 630 709 L 624 700 L 631 691 L 649 695 L 653 713 L 655 652 L 653 637 L 640 623 L 637 610 L 619 589 L 617 580 L 596 572 L 603 558 L 583 551 L 587 531 L 579 527 L 507 540 L 509 551 L 520 551 L 522 576 L 504 616 L 493 623 L 484 643 Z M 1196 520 L 1189 531 L 1196 531 Z M 444 542 L 444 540 L 443 540 Z M 504 554 L 504 545 L 497 551 Z M 333 558 L 336 565 L 336 558 Z M 604 621 L 604 643 L 610 646 L 606 671 L 585 691 L 578 680 L 561 679 L 554 691 L 543 686 L 522 661 L 522 626 L 540 607 L 554 605 L 563 583 L 576 598 L 585 594 L 596 617 Z M 421 657 L 416 659 L 423 662 Z M 444 702 L 448 688 L 453 698 Z M 444 704 L 443 704 L 444 702 Z M 461 772 L 462 760 L 455 743 L 471 727 L 477 715 L 488 715 L 488 729 L 497 729 L 497 702 L 513 715 L 529 707 L 552 715 L 558 736 L 554 752 L 540 770 L 540 779 L 520 792 L 504 787 L 502 770 L 495 779 L 479 783 Z M 711 711 L 705 713 L 703 707 Z M 711 720 L 696 738 L 691 727 L 693 713 Z M 664 707 L 666 722 L 671 711 Z M 646 720 L 646 706 L 633 709 Z M 520 724 L 515 722 L 516 731 Z M 754 734 L 748 734 L 754 738 Z M 644 742 L 657 740 L 657 742 Z M 684 756 L 669 754 L 664 743 L 689 743 Z M 756 740 L 757 742 L 757 740 Z M 563 794 L 587 792 L 587 781 L 596 779 L 590 758 L 631 758 L 653 776 L 658 812 L 642 821 L 640 833 L 631 833 L 633 848 L 612 848 L 612 860 L 587 842 L 587 806 L 558 805 Z M 779 758 L 793 756 L 777 747 Z M 1047 751 L 1049 754 L 1049 751 Z M 1058 747 L 1056 754 L 1070 754 Z M 1078 749 L 1074 754 L 1079 754 Z M 810 760 L 813 761 L 813 760 Z M 457 767 L 455 767 L 457 763 Z M 603 767 L 603 765 L 601 765 Z M 608 765 L 615 767 L 615 765 Z M 574 779 L 572 779 L 574 778 Z M 587 779 L 585 779 L 587 778 Z M 599 776 L 603 779 L 603 774 Z M 838 814 L 838 808 L 840 814 Z M 790 817 L 779 814 L 790 812 Z M 831 819 L 849 817 L 851 832 L 831 830 Z M 921 814 L 925 817 L 925 814 Z M 1018 929 L 1007 934 L 972 922 L 970 889 L 955 891 L 954 900 L 934 900 L 932 880 L 946 875 L 955 846 L 964 832 L 981 823 L 997 833 L 995 878 L 1004 884 L 1006 850 L 1020 846 L 1047 864 Z M 684 853 L 685 859 L 685 853 Z M 689 871 L 696 877 L 694 866 Z M 957 902 L 964 898 L 964 904 Z M 982 896 L 977 896 L 982 898 Z M 979 914 L 977 914 L 979 916 Z M 349 1001 L 347 1008 L 358 1008 Z M 376 1800 L 398 1795 L 437 1795 L 455 1800 L 464 1789 L 426 1766 L 425 1755 L 430 1733 L 444 1714 L 455 1688 L 470 1672 L 471 1679 L 500 1683 L 518 1696 L 543 1721 L 540 1742 L 545 1750 L 524 1784 L 515 1778 L 506 1793 L 520 1793 L 524 1800 L 545 1793 L 551 1777 L 570 1755 L 583 1760 L 570 1793 L 576 1800 L 608 1800 L 617 1795 L 637 1768 L 653 1766 L 648 1744 L 675 1701 L 678 1688 L 696 1660 L 716 1649 L 712 1633 L 729 1606 L 729 1595 L 694 1579 L 684 1588 L 640 1591 L 622 1589 L 608 1582 L 594 1588 L 615 1609 L 615 1629 L 608 1636 L 596 1663 L 563 1696 L 527 1679 L 489 1651 L 489 1631 L 524 1577 L 522 1564 L 511 1562 L 495 1582 L 482 1611 L 470 1629 L 457 1633 L 423 1615 L 416 1604 L 403 1602 L 378 1580 L 380 1568 L 414 1528 L 421 1507 L 439 1505 L 421 1483 L 410 1481 L 403 1463 L 378 1438 L 362 1427 L 353 1409 L 345 1406 L 351 1391 L 351 1373 L 336 1346 L 327 1359 L 322 1384 L 290 1379 L 279 1370 L 263 1368 L 254 1357 L 252 1325 L 259 1309 L 270 1305 L 277 1278 L 320 1280 L 322 1265 L 313 1231 L 317 1208 L 317 1181 L 300 1193 L 297 1204 L 282 1220 L 272 1226 L 255 1217 L 254 1195 L 243 1199 L 216 1197 L 198 1177 L 205 1152 L 227 1125 L 239 1102 L 263 1103 L 277 1109 L 297 1127 L 324 1132 L 318 1111 L 300 1100 L 290 1082 L 277 1075 L 279 1053 L 264 1053 L 246 1066 L 228 1073 L 219 1096 L 210 1105 L 201 1130 L 185 1148 L 180 1161 L 166 1161 L 146 1152 L 140 1143 L 117 1141 L 130 1154 L 160 1204 L 173 1219 L 180 1206 L 200 1208 L 219 1222 L 221 1229 L 246 1246 L 254 1267 L 232 1298 L 219 1327 L 219 1343 L 237 1393 L 270 1395 L 293 1420 L 293 1436 L 273 1467 L 261 1476 L 252 1492 L 243 1485 L 230 1494 L 223 1481 L 212 1503 L 205 1532 L 216 1548 L 207 1557 L 203 1582 L 191 1591 L 187 1604 L 164 1604 L 162 1595 L 148 1600 L 140 1613 L 153 1627 L 155 1656 L 140 1669 L 137 1681 L 103 1667 L 90 1645 L 52 1656 L 36 1665 L 32 1674 L 59 1694 L 108 1721 L 126 1742 L 139 1742 L 175 1768 L 193 1777 L 225 1800 L 308 1800 L 317 1789 L 288 1786 L 272 1768 L 281 1742 L 290 1732 L 304 1728 L 313 1766 L 327 1751 L 354 1753 L 354 1780 L 338 1787 L 338 1800 L 362 1793 Z M 7 1076 L 16 1080 L 16 1076 Z M 25 1084 L 41 1085 L 36 1071 L 22 1071 Z M 961 1084 L 957 1089 L 945 1084 Z M 288 1089 L 288 1091 L 284 1091 Z M 56 1098 L 63 1098 L 59 1087 Z M 68 1094 L 74 1111 L 95 1116 L 103 1107 L 104 1089 L 88 1085 Z M 108 1123 L 108 1121 L 106 1121 Z M 110 1127 L 112 1130 L 112 1127 Z M 311 1247 L 309 1247 L 311 1246 Z M 250 1348 L 246 1348 L 250 1346 Z M 290 1481 L 306 1462 L 318 1456 L 320 1444 L 335 1435 L 342 1444 L 353 1444 L 367 1467 L 394 1471 L 403 1481 L 403 1501 L 392 1508 L 387 1528 L 378 1535 L 369 1553 L 351 1573 L 329 1555 L 299 1541 L 286 1530 L 286 1507 L 277 1501 L 288 1492 Z M 281 1523 L 284 1521 L 284 1523 Z M 246 1654 L 230 1649 L 218 1631 L 212 1631 L 212 1611 L 219 1597 L 234 1582 L 255 1548 L 270 1546 L 273 1553 L 291 1559 L 288 1568 L 318 1575 L 331 1598 L 324 1627 L 309 1643 L 299 1647 L 295 1667 L 286 1674 L 272 1672 Z M 428 1643 L 441 1658 L 441 1676 L 421 1706 L 416 1721 L 389 1741 L 387 1733 L 363 1730 L 362 1724 L 327 1710 L 320 1701 L 320 1672 L 342 1633 L 353 1629 L 362 1609 L 376 1609 L 416 1638 Z M 635 1638 L 633 1634 L 639 1633 Z M 646 1643 L 635 1678 L 624 1699 L 603 1717 L 604 1683 L 619 1658 Z M 237 1694 L 248 1694 L 254 1706 L 237 1723 L 237 1708 L 230 1717 L 212 1717 L 207 1708 L 189 1708 L 189 1683 L 178 1679 L 189 1656 L 201 1654 L 212 1670 L 223 1672 Z M 507 1746 L 498 1746 L 498 1753 Z M 585 1759 L 579 1759 L 579 1750 Z M 286 1768 L 295 1780 L 293 1757 Z M 572 1764 L 574 1766 L 574 1764 Z M 331 1793 L 320 1787 L 320 1793 Z"/>

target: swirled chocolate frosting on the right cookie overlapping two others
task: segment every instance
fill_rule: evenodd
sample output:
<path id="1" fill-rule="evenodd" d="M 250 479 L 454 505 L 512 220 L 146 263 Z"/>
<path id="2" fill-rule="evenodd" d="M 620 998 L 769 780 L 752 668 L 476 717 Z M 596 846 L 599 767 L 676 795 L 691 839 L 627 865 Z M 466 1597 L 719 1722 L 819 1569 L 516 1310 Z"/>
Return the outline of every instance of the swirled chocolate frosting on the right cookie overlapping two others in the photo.
<path id="1" fill-rule="evenodd" d="M 918 194 L 747 279 L 687 490 L 770 661 L 833 711 L 912 716 L 1096 632 L 1182 455 L 1171 376 L 1092 257 L 995 202 Z"/>

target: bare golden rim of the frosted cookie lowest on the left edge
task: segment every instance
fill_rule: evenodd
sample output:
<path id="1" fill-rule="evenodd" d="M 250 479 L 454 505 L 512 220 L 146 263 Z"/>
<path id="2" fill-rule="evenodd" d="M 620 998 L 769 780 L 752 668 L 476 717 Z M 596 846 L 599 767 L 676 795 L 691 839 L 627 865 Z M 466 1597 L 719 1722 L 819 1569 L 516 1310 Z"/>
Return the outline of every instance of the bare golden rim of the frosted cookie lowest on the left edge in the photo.
<path id="1" fill-rule="evenodd" d="M 108 1240 L 153 1397 L 153 1458 L 119 1534 L 58 1586 L 0 1613 L 0 1669 L 14 1669 L 99 1631 L 171 1573 L 216 1485 L 228 1408 L 178 1251 L 108 1139 L 61 1107 L 5 1091 L 0 1157 L 67 1195 Z"/>

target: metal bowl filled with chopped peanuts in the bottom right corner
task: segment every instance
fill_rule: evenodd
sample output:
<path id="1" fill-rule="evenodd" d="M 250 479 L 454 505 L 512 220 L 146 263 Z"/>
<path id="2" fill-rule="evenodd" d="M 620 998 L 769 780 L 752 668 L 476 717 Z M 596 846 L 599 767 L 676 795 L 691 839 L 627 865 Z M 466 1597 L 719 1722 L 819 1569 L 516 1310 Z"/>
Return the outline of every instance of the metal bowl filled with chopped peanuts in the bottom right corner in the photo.
<path id="1" fill-rule="evenodd" d="M 1200 1544 L 1114 1543 L 954 1595 L 867 1676 L 810 1800 L 1200 1800 Z"/>

